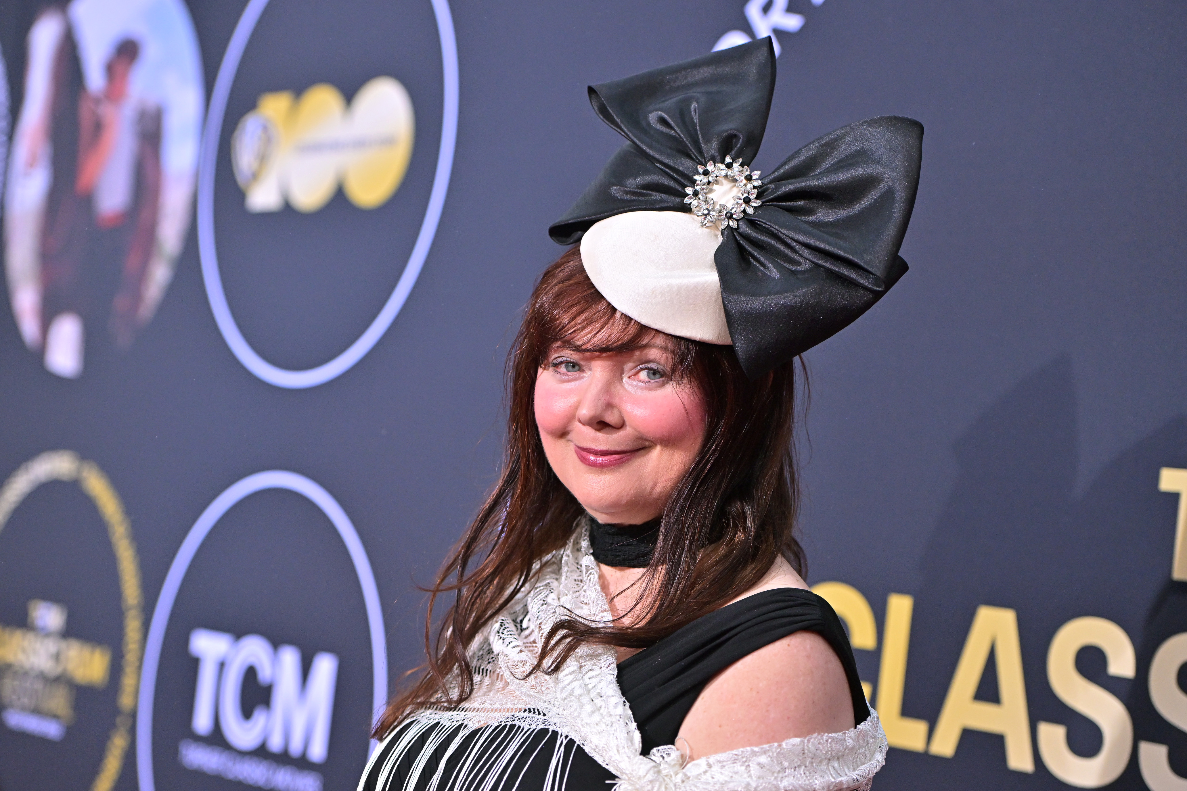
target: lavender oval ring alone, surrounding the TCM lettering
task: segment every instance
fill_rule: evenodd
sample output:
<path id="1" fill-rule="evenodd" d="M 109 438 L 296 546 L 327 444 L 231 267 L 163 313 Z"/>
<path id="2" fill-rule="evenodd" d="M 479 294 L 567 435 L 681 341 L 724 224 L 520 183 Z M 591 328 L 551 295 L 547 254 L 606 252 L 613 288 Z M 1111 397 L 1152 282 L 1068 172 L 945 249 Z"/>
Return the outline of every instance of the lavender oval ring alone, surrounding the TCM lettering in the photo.
<path id="1" fill-rule="evenodd" d="M 165 630 L 169 627 L 169 618 L 173 611 L 173 602 L 177 600 L 177 592 L 190 569 L 195 553 L 198 551 L 198 547 L 205 541 L 207 535 L 218 523 L 218 519 L 243 498 L 266 489 L 286 489 L 311 500 L 334 523 L 338 536 L 347 546 L 350 561 L 355 566 L 355 574 L 358 576 L 358 585 L 363 591 L 363 602 L 367 605 L 367 626 L 372 642 L 372 713 L 377 714 L 380 707 L 387 702 L 387 639 L 383 631 L 383 610 L 379 602 L 375 574 L 372 572 L 370 561 L 367 560 L 367 550 L 363 549 L 355 525 L 351 524 L 350 517 L 334 499 L 334 496 L 305 476 L 286 470 L 258 472 L 227 487 L 193 523 L 185 541 L 182 542 L 182 547 L 177 550 L 177 555 L 173 556 L 173 562 L 170 563 L 160 595 L 157 598 L 157 606 L 153 607 L 148 637 L 145 638 L 144 664 L 140 669 L 140 694 L 137 700 L 137 776 L 140 791 L 155 791 L 155 780 L 152 774 L 152 707 L 153 697 L 157 694 L 157 666 L 160 663 Z M 376 742 L 373 740 L 368 755 L 374 752 Z"/>

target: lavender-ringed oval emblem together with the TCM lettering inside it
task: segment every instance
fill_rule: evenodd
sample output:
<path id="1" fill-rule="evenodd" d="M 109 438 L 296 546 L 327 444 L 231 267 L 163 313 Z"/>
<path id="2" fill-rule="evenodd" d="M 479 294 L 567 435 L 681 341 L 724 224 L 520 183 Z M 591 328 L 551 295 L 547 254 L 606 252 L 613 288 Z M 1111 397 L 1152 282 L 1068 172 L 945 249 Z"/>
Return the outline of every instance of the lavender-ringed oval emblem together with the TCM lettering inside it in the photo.
<path id="1" fill-rule="evenodd" d="M 294 644 L 284 645 L 275 636 L 269 639 L 268 632 L 285 633 L 285 627 L 280 621 L 286 619 L 292 621 L 294 618 L 300 620 L 307 614 L 304 611 L 294 613 L 290 608 L 290 612 L 279 613 L 268 619 L 268 623 L 259 623 L 261 619 L 256 619 L 252 621 L 250 627 L 243 626 L 236 632 L 226 631 L 221 623 L 204 623 L 217 619 L 217 615 L 208 612 L 209 607 L 204 608 L 197 617 L 193 615 L 192 607 L 174 611 L 179 591 L 191 564 L 195 563 L 195 556 L 210 537 L 215 525 L 236 504 L 242 503 L 252 495 L 269 490 L 293 492 L 312 503 L 334 524 L 337 537 L 345 546 L 366 610 L 372 661 L 369 701 L 372 714 L 377 712 L 386 701 L 387 644 L 383 614 L 370 562 L 350 518 L 325 489 L 304 476 L 283 470 L 248 476 L 218 495 L 198 517 L 170 564 L 157 606 L 153 608 L 152 623 L 145 640 L 144 670 L 140 678 L 140 716 L 137 722 L 137 768 L 140 791 L 154 791 L 157 787 L 153 736 L 158 685 L 161 683 L 165 683 L 166 687 L 182 684 L 176 674 L 161 675 L 161 651 L 166 644 L 170 620 L 178 612 L 182 613 L 182 618 L 189 618 L 192 621 L 188 625 L 197 626 L 189 633 L 189 657 L 185 659 L 196 658 L 198 664 L 192 683 L 193 691 L 189 691 L 191 687 L 185 687 L 186 697 L 170 698 L 170 707 L 165 709 L 165 714 L 177 719 L 177 709 L 185 709 L 183 714 L 186 727 L 182 729 L 188 736 L 178 744 L 178 764 L 186 772 L 184 777 L 190 778 L 189 784 L 195 787 L 209 787 L 212 776 L 215 778 L 214 787 L 242 787 L 240 784 L 246 784 L 288 791 L 317 791 L 322 789 L 323 778 L 316 770 L 326 763 L 331 723 L 334 727 L 342 727 L 337 722 L 331 722 L 335 688 L 336 684 L 341 685 L 342 680 L 337 678 L 338 655 L 326 651 L 325 645 L 323 645 L 325 636 L 322 632 L 324 630 L 299 629 L 299 640 L 292 640 L 290 625 L 286 634 Z M 269 518 L 272 513 L 273 509 L 269 508 Z M 239 538 L 241 532 L 229 535 L 231 538 Z M 222 536 L 217 536 L 217 538 L 223 540 Z M 306 541 L 306 543 L 311 543 L 311 541 Z M 285 534 L 284 544 L 278 546 L 292 547 L 294 544 L 297 542 L 293 537 Z M 250 551 L 236 554 L 252 555 Z M 223 572 L 227 578 L 217 580 L 220 589 L 234 586 L 234 579 L 229 576 L 230 572 L 224 569 L 224 567 L 234 566 L 231 561 L 242 564 L 250 562 L 250 557 L 246 561 L 235 557 L 227 559 L 227 562 L 215 562 L 212 568 Z M 199 557 L 198 564 L 201 566 L 203 562 L 210 564 L 211 560 Z M 259 572 L 259 574 L 264 574 L 264 572 Z M 268 579 L 271 580 L 271 578 Z M 269 583 L 274 582 L 272 580 Z M 290 588 L 288 593 L 285 594 L 285 600 L 287 601 L 290 597 L 299 597 L 301 593 L 304 592 Z M 332 602 L 322 604 L 332 605 Z M 249 610 L 249 605 L 250 602 L 243 602 L 242 610 Z M 249 632 L 248 629 L 252 631 Z M 177 634 L 169 637 L 169 640 L 176 643 Z M 298 642 L 303 644 L 296 645 Z M 305 649 L 304 653 L 301 649 Z M 184 648 L 180 649 L 180 652 L 184 653 Z M 355 658 L 354 655 L 343 656 L 342 662 L 349 663 Z M 193 665 L 192 661 L 190 665 Z M 255 682 L 248 681 L 252 674 L 254 674 Z M 349 666 L 344 674 L 350 674 Z M 269 688 L 271 693 L 265 691 Z M 247 698 L 246 706 L 250 714 L 245 713 L 245 698 Z M 189 714 L 191 701 L 192 715 Z M 258 703 L 254 708 L 253 702 Z M 172 725 L 177 726 L 176 722 Z M 358 727 L 357 723 L 354 726 Z M 155 729 L 160 731 L 161 727 L 158 725 Z M 178 729 L 173 727 L 174 732 Z M 201 740 L 202 736 L 210 736 L 216 731 L 222 734 L 230 749 L 210 744 L 209 740 Z M 269 752 L 261 753 L 260 751 L 265 746 Z M 374 748 L 373 742 L 370 748 Z M 253 752 L 256 754 L 253 755 Z M 286 752 L 287 755 L 284 754 Z M 368 752 L 369 749 L 364 751 L 364 754 Z M 272 755 L 275 755 L 278 760 L 272 760 Z M 288 757 L 301 758 L 306 766 L 303 768 L 286 763 Z M 177 767 L 172 768 L 178 771 Z M 361 768 L 360 765 L 357 770 L 361 771 Z M 235 785 L 220 784 L 218 778 Z M 174 780 L 166 785 L 173 787 L 179 783 Z"/>

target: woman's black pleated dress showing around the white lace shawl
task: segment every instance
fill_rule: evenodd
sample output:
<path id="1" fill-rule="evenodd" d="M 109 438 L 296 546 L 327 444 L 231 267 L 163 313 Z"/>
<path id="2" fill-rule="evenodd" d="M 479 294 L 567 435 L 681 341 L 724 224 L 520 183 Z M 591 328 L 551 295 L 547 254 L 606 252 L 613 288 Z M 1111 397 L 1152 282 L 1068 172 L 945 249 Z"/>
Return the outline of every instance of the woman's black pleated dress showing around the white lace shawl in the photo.
<path id="1" fill-rule="evenodd" d="M 827 601 L 811 591 L 779 588 L 726 605 L 618 664 L 618 687 L 630 704 L 642 734 L 642 753 L 675 742 L 684 717 L 713 676 L 764 645 L 800 631 L 817 632 L 837 652 L 849 681 L 853 722 L 864 722 L 870 710 L 857 677 L 853 652 L 837 613 Z M 500 726 L 491 728 L 497 729 Z M 503 729 L 509 736 L 509 729 Z M 487 752 L 497 752 L 502 734 L 490 734 L 488 731 L 485 735 L 494 735 Z M 466 736 L 475 738 L 475 733 Z M 421 736 L 420 744 L 426 745 L 427 740 L 427 735 Z M 391 749 L 394 741 L 388 742 L 387 749 Z M 420 782 L 406 791 L 426 789 L 443 760 L 445 770 L 437 787 L 439 791 L 458 791 L 457 784 L 450 778 L 458 768 L 457 757 L 465 751 L 456 751 L 452 758 L 446 758 L 444 747 L 438 747 L 429 755 L 423 755 L 421 752 L 418 747 L 410 749 L 392 782 L 383 787 L 377 786 L 377 772 L 373 771 L 364 778 L 362 791 L 405 791 L 404 780 L 411 774 L 412 765 L 421 759 L 426 763 L 426 770 Z M 560 755 L 560 771 L 566 776 L 563 785 L 569 791 L 605 791 L 607 784 L 615 779 L 572 741 L 560 738 L 553 731 L 540 731 L 532 735 L 528 748 L 515 760 L 496 770 L 499 777 L 485 778 L 490 780 L 488 787 L 504 791 L 559 787 L 561 784 L 557 782 L 558 778 L 548 777 L 557 754 Z M 382 763 L 381 755 L 375 765 Z"/>

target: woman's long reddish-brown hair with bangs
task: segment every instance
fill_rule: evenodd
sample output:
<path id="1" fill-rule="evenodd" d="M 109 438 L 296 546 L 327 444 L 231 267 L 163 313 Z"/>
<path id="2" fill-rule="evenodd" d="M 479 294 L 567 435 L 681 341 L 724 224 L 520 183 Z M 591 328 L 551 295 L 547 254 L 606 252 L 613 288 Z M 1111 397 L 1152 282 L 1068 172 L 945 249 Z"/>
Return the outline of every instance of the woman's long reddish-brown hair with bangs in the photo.
<path id="1" fill-rule="evenodd" d="M 502 473 L 429 588 L 427 662 L 419 680 L 388 704 L 375 726 L 376 739 L 418 708 L 459 706 L 469 698 L 474 687 L 466 649 L 529 585 L 534 562 L 565 544 L 583 513 L 552 472 L 535 425 L 535 379 L 554 344 L 575 351 L 626 351 L 654 333 L 598 293 L 578 248 L 540 276 L 507 359 L 510 403 Z M 637 601 L 646 604 L 636 607 L 643 611 L 634 613 L 633 626 L 558 623 L 544 642 L 538 671 L 554 672 L 585 642 L 652 645 L 753 587 L 779 556 L 796 572 L 805 570 L 794 536 L 799 490 L 793 363 L 751 382 L 732 347 L 677 337 L 671 342 L 673 377 L 699 389 L 707 427 L 700 451 L 664 509 L 652 566 L 637 582 Z M 433 605 L 443 593 L 453 593 L 455 600 L 434 634 Z"/>

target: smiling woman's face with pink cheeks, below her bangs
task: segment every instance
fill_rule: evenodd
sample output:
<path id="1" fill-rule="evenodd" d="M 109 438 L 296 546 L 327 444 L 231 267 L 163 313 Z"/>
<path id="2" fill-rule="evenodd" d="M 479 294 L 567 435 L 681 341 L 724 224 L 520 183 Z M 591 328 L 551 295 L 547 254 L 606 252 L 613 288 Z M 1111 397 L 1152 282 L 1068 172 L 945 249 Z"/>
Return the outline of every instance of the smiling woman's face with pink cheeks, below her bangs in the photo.
<path id="1" fill-rule="evenodd" d="M 535 422 L 548 464 L 598 522 L 641 524 L 662 512 L 705 436 L 700 393 L 672 379 L 665 337 L 626 352 L 550 350 L 535 379 Z"/>

